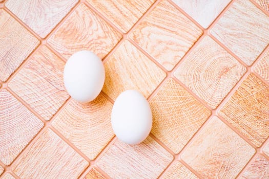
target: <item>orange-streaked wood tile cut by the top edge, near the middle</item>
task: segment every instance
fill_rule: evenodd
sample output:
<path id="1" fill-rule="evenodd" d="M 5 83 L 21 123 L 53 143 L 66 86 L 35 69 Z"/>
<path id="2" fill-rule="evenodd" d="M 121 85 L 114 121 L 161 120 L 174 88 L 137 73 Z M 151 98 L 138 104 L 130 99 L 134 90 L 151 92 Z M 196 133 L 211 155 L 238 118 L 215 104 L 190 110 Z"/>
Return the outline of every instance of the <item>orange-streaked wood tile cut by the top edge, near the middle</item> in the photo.
<path id="1" fill-rule="evenodd" d="M 122 32 L 128 32 L 155 0 L 87 0 Z"/>

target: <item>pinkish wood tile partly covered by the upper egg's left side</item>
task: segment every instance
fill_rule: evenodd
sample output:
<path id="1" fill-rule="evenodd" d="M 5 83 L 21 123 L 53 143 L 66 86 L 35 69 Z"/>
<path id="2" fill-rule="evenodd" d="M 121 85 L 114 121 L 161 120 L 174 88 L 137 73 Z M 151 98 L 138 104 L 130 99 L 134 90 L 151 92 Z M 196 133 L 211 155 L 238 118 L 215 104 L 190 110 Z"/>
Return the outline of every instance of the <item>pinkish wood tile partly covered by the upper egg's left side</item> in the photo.
<path id="1" fill-rule="evenodd" d="M 63 82 L 64 66 L 61 59 L 42 46 L 10 81 L 9 87 L 40 116 L 50 120 L 69 98 Z"/>

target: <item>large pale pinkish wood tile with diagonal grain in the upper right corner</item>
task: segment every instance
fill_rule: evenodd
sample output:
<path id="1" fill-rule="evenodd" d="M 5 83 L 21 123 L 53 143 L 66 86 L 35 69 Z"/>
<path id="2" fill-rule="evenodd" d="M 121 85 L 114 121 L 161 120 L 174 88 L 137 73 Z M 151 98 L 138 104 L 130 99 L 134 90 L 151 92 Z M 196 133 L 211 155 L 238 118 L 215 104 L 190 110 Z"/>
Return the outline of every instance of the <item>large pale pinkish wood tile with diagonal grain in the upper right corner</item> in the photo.
<path id="1" fill-rule="evenodd" d="M 237 0 L 211 33 L 247 65 L 251 65 L 269 43 L 268 31 L 269 17 L 249 0 Z"/>

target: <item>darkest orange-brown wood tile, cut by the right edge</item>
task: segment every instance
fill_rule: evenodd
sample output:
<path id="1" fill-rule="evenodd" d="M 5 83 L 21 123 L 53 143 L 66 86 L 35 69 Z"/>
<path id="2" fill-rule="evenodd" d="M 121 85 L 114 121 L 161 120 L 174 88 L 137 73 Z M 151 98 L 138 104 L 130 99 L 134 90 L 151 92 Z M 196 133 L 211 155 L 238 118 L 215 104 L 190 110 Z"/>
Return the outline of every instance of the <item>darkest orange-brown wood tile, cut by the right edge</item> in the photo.
<path id="1" fill-rule="evenodd" d="M 250 74 L 221 108 L 220 115 L 261 146 L 269 136 L 269 86 Z"/>

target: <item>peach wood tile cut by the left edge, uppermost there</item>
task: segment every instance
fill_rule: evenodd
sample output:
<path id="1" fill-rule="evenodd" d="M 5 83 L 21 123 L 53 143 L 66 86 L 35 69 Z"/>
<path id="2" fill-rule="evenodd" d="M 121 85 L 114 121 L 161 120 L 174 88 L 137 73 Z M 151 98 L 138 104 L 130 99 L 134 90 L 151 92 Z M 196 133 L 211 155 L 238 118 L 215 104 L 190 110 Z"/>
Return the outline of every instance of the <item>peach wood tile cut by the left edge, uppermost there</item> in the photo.
<path id="1" fill-rule="evenodd" d="M 0 9 L 0 80 L 9 76 L 38 46 L 39 40 Z"/>

